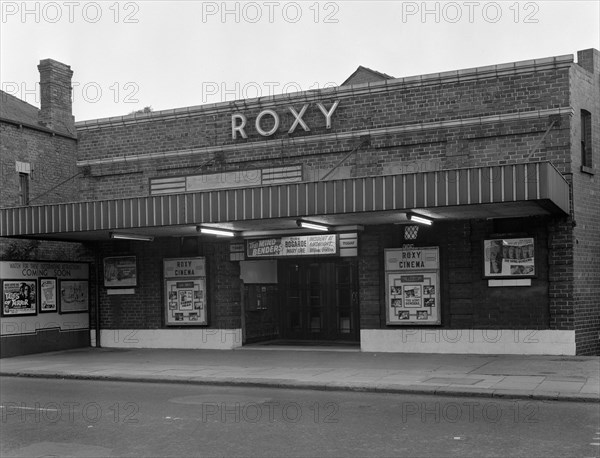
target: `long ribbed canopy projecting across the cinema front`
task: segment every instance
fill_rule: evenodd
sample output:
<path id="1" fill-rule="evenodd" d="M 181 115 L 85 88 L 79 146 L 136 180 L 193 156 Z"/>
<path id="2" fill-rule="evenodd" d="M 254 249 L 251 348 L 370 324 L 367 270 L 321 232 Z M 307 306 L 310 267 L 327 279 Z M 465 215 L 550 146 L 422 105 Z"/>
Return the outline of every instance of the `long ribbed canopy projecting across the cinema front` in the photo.
<path id="1" fill-rule="evenodd" d="M 569 213 L 569 184 L 552 164 L 475 167 L 289 183 L 0 210 L 2 237 L 105 240 L 110 231 L 158 236 L 199 224 L 239 231 L 289 228 L 309 217 L 333 225 L 399 222 L 421 211 L 437 219 Z"/>

